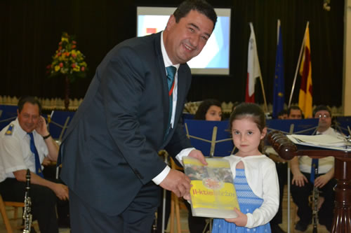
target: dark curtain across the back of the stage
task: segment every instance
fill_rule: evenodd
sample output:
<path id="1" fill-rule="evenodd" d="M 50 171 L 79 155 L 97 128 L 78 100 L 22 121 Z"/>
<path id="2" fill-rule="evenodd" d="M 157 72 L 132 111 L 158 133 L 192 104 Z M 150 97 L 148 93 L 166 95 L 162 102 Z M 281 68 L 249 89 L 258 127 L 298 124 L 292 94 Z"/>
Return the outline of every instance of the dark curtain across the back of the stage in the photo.
<path id="1" fill-rule="evenodd" d="M 253 22 L 267 102 L 272 103 L 277 19 L 282 22 L 286 104 L 289 101 L 306 22 L 310 22 L 313 104 L 340 106 L 343 88 L 344 1 L 332 0 L 209 0 L 232 8 L 230 76 L 194 76 L 189 101 L 216 98 L 244 101 L 249 22 Z M 0 0 L 0 95 L 63 97 L 63 78 L 48 78 L 46 65 L 58 48 L 62 31 L 76 36 L 86 55 L 88 78 L 71 85 L 71 98 L 81 98 L 95 69 L 117 43 L 136 33 L 136 6 L 177 6 L 157 0 Z M 293 103 L 298 101 L 300 76 Z M 256 101 L 263 103 L 260 82 Z"/>

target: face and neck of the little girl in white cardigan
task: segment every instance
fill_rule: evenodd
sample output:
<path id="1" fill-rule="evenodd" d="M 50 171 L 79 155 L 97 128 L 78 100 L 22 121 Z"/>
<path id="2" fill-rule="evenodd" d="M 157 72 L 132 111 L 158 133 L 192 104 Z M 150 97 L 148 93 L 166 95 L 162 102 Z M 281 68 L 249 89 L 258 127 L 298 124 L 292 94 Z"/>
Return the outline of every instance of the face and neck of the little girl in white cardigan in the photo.
<path id="1" fill-rule="evenodd" d="M 251 118 L 242 118 L 232 122 L 234 145 L 238 148 L 238 156 L 261 155 L 258 150 L 261 139 L 265 137 L 267 128 L 262 132 Z"/>

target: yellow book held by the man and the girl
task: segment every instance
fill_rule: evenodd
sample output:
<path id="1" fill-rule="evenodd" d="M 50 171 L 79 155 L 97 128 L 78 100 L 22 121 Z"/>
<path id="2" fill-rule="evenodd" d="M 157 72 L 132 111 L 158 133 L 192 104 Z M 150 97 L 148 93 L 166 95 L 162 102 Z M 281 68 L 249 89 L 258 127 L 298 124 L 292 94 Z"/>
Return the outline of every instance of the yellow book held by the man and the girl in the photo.
<path id="1" fill-rule="evenodd" d="M 207 158 L 207 166 L 193 157 L 183 157 L 184 171 L 191 179 L 192 216 L 237 218 L 239 209 L 230 163 L 221 158 Z"/>

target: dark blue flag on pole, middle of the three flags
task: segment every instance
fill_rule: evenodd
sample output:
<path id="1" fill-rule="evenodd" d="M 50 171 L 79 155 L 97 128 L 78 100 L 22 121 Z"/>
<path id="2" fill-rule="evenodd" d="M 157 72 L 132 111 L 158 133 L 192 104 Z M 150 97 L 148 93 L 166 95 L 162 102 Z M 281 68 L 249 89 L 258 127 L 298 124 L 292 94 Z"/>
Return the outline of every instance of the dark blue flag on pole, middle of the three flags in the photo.
<path id="1" fill-rule="evenodd" d="M 277 118 L 278 113 L 284 109 L 285 90 L 284 90 L 284 58 L 282 31 L 280 21 L 278 21 L 278 43 L 277 55 L 275 57 L 275 75 L 273 87 L 273 118 Z"/>

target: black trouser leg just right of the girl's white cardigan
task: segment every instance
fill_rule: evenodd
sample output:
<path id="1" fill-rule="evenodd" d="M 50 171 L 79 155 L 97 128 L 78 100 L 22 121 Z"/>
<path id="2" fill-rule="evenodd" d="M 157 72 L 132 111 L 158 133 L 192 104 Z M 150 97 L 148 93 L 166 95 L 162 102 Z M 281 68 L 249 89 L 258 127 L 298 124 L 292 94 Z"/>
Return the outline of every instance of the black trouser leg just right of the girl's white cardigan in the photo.
<path id="1" fill-rule="evenodd" d="M 278 212 L 275 214 L 274 218 L 270 220 L 270 225 L 278 225 L 282 223 L 283 211 L 282 202 L 284 195 L 284 186 L 286 185 L 288 179 L 288 163 L 276 162 L 275 167 L 277 168 L 278 181 L 279 181 L 279 208 Z"/>

